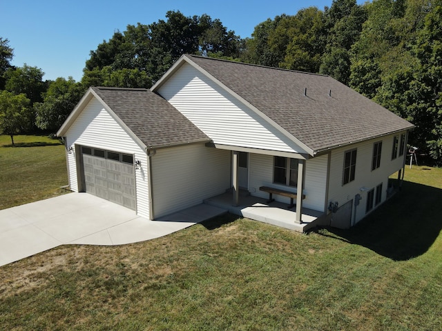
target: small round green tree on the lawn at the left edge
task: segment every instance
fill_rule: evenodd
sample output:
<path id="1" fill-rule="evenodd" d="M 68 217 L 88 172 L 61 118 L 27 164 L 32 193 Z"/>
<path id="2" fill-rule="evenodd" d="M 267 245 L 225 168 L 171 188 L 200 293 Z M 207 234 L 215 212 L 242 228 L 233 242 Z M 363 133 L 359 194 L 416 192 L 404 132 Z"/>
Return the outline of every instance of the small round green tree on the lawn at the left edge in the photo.
<path id="1" fill-rule="evenodd" d="M 30 100 L 25 94 L 15 95 L 0 91 L 0 133 L 8 134 L 14 145 L 14 136 L 30 126 Z"/>

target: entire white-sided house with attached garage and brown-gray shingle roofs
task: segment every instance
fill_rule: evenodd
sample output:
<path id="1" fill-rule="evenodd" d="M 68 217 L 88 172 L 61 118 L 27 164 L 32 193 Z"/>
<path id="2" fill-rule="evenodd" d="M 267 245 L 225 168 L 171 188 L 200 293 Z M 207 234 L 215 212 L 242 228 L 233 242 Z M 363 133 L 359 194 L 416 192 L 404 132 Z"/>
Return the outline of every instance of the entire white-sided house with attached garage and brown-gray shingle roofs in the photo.
<path id="1" fill-rule="evenodd" d="M 90 88 L 57 134 L 71 190 L 151 220 L 230 190 L 348 228 L 387 199 L 413 127 L 328 76 L 183 55 L 151 90 Z"/>

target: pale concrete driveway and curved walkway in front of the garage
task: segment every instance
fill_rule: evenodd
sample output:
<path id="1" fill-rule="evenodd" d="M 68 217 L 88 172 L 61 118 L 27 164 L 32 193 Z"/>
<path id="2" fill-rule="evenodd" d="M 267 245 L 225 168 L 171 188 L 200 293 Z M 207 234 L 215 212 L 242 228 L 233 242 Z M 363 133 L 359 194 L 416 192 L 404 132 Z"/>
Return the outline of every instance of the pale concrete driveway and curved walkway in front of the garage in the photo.
<path id="1" fill-rule="evenodd" d="M 197 205 L 158 221 L 87 193 L 0 210 L 0 265 L 64 244 L 122 245 L 165 236 L 226 212 Z"/>

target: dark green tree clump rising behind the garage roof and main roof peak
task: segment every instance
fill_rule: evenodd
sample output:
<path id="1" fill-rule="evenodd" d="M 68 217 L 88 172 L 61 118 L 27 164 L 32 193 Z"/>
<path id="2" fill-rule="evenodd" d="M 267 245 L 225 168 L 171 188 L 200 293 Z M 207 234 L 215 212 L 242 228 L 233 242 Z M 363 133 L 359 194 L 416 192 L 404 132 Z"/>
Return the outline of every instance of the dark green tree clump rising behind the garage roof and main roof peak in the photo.
<path id="1" fill-rule="evenodd" d="M 238 57 L 238 50 L 239 37 L 227 31 L 219 19 L 169 11 L 166 21 L 129 25 L 126 31 L 115 32 L 109 41 L 99 44 L 90 52 L 81 82 L 84 86 L 148 88 L 182 54 Z"/>

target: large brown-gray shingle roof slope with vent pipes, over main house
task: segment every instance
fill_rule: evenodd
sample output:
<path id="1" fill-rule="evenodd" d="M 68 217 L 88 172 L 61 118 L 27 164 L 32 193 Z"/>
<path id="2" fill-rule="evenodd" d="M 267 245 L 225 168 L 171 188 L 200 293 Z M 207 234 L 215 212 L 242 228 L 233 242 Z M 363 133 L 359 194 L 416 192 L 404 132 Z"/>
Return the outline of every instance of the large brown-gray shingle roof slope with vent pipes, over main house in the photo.
<path id="1" fill-rule="evenodd" d="M 329 76 L 185 57 L 315 152 L 414 127 Z"/>

